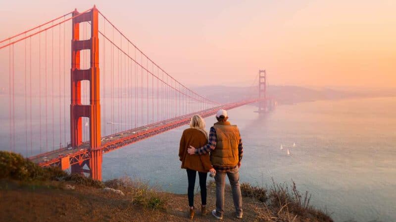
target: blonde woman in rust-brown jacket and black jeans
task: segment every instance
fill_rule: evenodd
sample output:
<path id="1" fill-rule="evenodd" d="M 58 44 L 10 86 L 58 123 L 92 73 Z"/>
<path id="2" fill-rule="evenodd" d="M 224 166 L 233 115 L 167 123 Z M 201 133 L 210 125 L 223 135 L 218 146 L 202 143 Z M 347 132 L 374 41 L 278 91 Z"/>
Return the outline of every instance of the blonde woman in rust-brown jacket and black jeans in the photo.
<path id="1" fill-rule="evenodd" d="M 199 186 L 201 189 L 201 213 L 206 212 L 206 177 L 207 172 L 214 171 L 210 163 L 209 153 L 205 155 L 189 155 L 187 149 L 190 146 L 202 147 L 207 143 L 207 132 L 205 131 L 205 121 L 199 115 L 191 118 L 190 128 L 183 131 L 180 139 L 179 159 L 182 161 L 182 168 L 187 170 L 189 181 L 188 197 L 190 206 L 190 219 L 194 218 L 194 187 L 197 171 L 199 176 Z"/>

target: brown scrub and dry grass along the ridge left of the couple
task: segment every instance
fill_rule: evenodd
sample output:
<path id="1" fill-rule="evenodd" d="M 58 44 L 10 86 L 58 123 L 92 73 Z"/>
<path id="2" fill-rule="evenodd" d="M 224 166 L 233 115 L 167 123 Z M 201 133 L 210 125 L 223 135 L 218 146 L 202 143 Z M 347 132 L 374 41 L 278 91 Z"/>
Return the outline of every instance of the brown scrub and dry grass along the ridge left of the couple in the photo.
<path id="1" fill-rule="evenodd" d="M 106 185 L 132 194 L 133 203 L 149 209 L 164 209 L 169 197 L 166 193 L 159 192 L 139 180 L 132 181 L 128 177 L 123 177 L 103 184 L 81 174 L 69 175 L 59 168 L 39 167 L 22 155 L 8 151 L 0 151 L 0 179 L 11 179 L 31 184 L 40 184 L 44 181 L 73 182 L 77 185 L 95 188 L 103 188 Z"/>

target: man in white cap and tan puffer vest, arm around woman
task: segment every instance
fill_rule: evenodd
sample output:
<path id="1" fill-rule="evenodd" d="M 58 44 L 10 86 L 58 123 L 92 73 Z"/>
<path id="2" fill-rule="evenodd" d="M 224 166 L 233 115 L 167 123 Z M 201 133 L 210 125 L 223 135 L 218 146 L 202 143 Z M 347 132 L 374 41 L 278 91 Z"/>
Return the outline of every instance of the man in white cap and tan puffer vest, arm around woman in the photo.
<path id="1" fill-rule="evenodd" d="M 241 135 L 238 127 L 227 121 L 227 111 L 217 111 L 216 119 L 217 122 L 210 128 L 208 144 L 198 149 L 190 146 L 188 152 L 192 155 L 210 152 L 210 161 L 217 172 L 214 177 L 216 181 L 216 209 L 212 211 L 212 215 L 219 220 L 223 219 L 225 176 L 227 175 L 232 188 L 236 216 L 241 219 L 243 215 L 239 185 L 239 168 L 243 153 Z"/>

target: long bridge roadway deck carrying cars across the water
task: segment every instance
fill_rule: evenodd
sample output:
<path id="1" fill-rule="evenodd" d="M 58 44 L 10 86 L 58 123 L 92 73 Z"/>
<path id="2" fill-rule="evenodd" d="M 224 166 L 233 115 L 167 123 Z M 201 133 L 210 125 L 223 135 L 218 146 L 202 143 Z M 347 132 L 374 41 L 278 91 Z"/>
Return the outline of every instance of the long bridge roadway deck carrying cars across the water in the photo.
<path id="1" fill-rule="evenodd" d="M 268 99 L 268 98 L 267 98 Z M 193 112 L 187 115 L 178 116 L 161 122 L 152 123 L 135 129 L 115 133 L 101 138 L 101 147 L 103 153 L 122 148 L 135 142 L 147 139 L 165 131 L 186 125 L 190 123 L 190 118 L 194 114 L 200 114 L 202 117 L 208 117 L 215 114 L 219 109 L 230 110 L 246 104 L 259 102 L 263 99 L 252 99 L 238 103 L 229 103 L 218 107 L 210 108 L 203 111 Z M 84 142 L 77 148 L 66 147 L 42 153 L 30 157 L 30 159 L 40 166 L 61 166 L 61 161 L 69 161 L 70 165 L 82 162 L 91 158 L 90 143 Z"/>

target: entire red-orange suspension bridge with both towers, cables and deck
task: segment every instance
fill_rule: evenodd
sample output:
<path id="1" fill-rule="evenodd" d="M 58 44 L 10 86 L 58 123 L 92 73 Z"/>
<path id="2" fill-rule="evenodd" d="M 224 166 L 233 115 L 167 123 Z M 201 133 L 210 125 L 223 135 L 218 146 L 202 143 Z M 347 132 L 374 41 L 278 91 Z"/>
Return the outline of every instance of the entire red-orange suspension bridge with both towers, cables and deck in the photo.
<path id="1" fill-rule="evenodd" d="M 207 117 L 251 103 L 263 112 L 272 100 L 262 70 L 256 96 L 221 104 L 199 95 L 95 6 L 1 40 L 0 58 L 8 62 L 0 71 L 1 120 L 8 128 L 2 146 L 25 148 L 40 166 L 70 168 L 96 180 L 106 152 L 188 124 L 196 113 Z"/>

